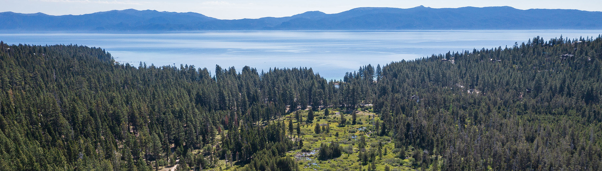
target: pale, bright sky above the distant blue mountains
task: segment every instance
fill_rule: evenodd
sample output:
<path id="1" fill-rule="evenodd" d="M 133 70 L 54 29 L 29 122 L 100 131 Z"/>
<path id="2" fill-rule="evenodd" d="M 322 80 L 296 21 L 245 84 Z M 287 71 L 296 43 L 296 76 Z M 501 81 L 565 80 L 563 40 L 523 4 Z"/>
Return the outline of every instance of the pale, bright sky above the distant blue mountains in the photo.
<path id="1" fill-rule="evenodd" d="M 134 8 L 195 12 L 217 19 L 256 19 L 292 16 L 305 11 L 332 14 L 358 7 L 412 8 L 420 5 L 431 8 L 510 6 L 521 10 L 531 8 L 602 10 L 600 0 L 0 0 L 0 11 L 66 15 Z"/>

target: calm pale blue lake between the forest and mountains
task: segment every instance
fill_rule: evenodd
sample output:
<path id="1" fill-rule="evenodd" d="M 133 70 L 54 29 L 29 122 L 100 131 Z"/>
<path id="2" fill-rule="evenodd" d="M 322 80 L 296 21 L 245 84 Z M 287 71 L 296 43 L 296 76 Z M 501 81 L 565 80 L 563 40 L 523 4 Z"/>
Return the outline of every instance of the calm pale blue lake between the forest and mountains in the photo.
<path id="1" fill-rule="evenodd" d="M 536 36 L 598 37 L 592 30 L 491 31 L 194 31 L 153 34 L 0 34 L 7 44 L 81 44 L 102 47 L 116 61 L 197 68 L 245 65 L 311 67 L 326 79 L 342 79 L 362 65 L 388 64 L 433 53 L 512 46 Z"/>

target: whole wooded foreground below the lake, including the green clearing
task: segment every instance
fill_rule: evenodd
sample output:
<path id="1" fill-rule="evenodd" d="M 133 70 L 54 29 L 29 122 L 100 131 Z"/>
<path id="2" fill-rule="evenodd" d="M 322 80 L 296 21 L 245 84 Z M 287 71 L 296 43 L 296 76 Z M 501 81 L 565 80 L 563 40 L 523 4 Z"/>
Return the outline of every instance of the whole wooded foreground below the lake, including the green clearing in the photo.
<path id="1" fill-rule="evenodd" d="M 536 37 L 328 81 L 0 42 L 0 167 L 602 170 L 601 62 L 602 36 Z"/>

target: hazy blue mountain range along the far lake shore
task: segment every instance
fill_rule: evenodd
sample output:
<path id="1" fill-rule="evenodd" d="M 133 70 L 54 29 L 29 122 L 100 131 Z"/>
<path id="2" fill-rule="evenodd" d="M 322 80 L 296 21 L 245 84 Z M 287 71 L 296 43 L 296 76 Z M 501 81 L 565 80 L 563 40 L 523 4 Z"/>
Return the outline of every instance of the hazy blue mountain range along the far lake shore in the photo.
<path id="1" fill-rule="evenodd" d="M 602 12 L 512 7 L 355 8 L 290 17 L 220 20 L 199 13 L 112 10 L 83 15 L 0 13 L 4 31 L 202 31 L 398 29 L 602 29 Z"/>

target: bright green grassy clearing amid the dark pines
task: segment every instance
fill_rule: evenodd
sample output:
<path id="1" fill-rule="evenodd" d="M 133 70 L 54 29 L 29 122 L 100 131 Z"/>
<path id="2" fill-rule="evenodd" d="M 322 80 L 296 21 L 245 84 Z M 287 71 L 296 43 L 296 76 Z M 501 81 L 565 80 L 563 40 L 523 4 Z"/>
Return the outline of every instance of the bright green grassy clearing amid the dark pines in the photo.
<path id="1" fill-rule="evenodd" d="M 335 112 L 341 112 L 341 115 L 335 115 Z M 288 119 L 292 118 L 294 128 L 296 129 L 297 122 L 299 121 L 296 121 L 294 115 L 294 112 L 291 112 L 279 119 L 286 119 L 287 122 L 285 123 L 288 128 Z M 414 170 L 411 168 L 412 158 L 406 158 L 406 156 L 411 154 L 411 150 L 401 151 L 402 149 L 395 149 L 389 136 L 370 134 L 370 130 L 374 128 L 372 123 L 380 121 L 376 113 L 369 112 L 369 110 L 359 111 L 356 113 L 357 124 L 355 125 L 352 125 L 352 115 L 350 112 L 343 112 L 341 109 L 330 109 L 329 116 L 324 116 L 322 110 L 315 112 L 312 123 L 305 122 L 306 115 L 307 111 L 302 110 L 303 118 L 300 119 L 299 125 L 302 133 L 303 148 L 287 152 L 287 156 L 293 157 L 299 163 L 300 170 L 369 170 L 368 167 L 370 167 L 370 164 L 362 165 L 362 162 L 358 158 L 358 142 L 361 136 L 366 136 L 366 151 L 376 150 L 379 142 L 382 143 L 382 151 L 386 151 L 386 154 L 382 152 L 382 157 L 376 157 L 376 160 L 374 160 L 376 170 L 385 170 L 386 166 L 389 166 L 389 170 Z M 339 124 L 341 116 L 347 119 L 343 127 L 340 127 Z M 330 130 L 315 134 L 315 124 L 328 124 Z M 337 133 L 338 136 L 336 136 Z M 287 136 L 296 140 L 296 130 L 293 130 L 293 134 L 291 135 L 287 129 Z M 318 160 L 317 156 L 321 143 L 330 142 L 340 143 L 342 149 L 341 157 L 326 161 Z M 402 157 L 397 158 L 398 156 Z M 225 160 L 221 160 L 218 167 L 210 170 L 234 170 L 242 167 L 237 165 L 228 166 Z"/>

